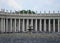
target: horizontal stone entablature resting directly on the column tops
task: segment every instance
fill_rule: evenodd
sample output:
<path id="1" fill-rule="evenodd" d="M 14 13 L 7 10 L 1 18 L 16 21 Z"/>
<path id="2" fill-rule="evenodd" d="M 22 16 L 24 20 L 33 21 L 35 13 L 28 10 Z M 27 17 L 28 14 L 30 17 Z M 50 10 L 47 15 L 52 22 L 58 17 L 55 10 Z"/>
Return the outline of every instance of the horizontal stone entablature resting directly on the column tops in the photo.
<path id="1" fill-rule="evenodd" d="M 3 15 L 0 14 L 0 18 L 13 18 L 13 19 L 60 19 L 59 15 Z"/>

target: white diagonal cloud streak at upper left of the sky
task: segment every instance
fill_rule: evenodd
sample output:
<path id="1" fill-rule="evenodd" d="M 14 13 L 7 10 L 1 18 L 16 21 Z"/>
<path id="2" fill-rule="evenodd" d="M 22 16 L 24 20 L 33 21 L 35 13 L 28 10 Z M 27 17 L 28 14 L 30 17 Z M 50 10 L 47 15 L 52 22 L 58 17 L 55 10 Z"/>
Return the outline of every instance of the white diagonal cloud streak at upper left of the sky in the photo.
<path id="1" fill-rule="evenodd" d="M 15 10 L 21 10 L 23 9 L 22 8 L 22 5 L 21 4 L 18 4 L 15 0 L 7 0 L 7 4 L 8 6 L 10 6 L 11 8 L 14 8 Z"/>

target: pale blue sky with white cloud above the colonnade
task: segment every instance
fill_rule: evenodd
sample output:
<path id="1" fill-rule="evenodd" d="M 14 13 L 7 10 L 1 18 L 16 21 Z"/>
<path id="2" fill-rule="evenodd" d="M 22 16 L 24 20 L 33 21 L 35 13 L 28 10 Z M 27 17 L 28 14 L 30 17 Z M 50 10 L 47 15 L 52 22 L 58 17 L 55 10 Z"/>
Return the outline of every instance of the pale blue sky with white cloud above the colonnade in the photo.
<path id="1" fill-rule="evenodd" d="M 60 0 L 0 0 L 0 9 L 57 12 L 60 11 Z"/>

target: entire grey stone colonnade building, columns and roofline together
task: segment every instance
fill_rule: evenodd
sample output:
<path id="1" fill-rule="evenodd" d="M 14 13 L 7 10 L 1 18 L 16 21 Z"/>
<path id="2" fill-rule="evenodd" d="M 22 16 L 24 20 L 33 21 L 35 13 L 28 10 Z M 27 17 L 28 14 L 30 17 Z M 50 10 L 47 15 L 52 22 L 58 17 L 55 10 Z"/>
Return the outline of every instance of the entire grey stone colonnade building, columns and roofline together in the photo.
<path id="1" fill-rule="evenodd" d="M 0 13 L 0 32 L 60 32 L 60 13 Z"/>

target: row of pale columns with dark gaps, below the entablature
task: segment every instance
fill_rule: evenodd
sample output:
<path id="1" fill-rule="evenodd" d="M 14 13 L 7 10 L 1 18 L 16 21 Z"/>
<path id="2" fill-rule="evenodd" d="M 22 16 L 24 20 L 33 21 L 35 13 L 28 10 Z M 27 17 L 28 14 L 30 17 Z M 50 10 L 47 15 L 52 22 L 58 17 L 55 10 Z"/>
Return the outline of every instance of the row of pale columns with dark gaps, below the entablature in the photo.
<path id="1" fill-rule="evenodd" d="M 35 32 L 60 32 L 60 19 L 0 18 L 0 32 L 26 32 L 30 25 Z"/>

